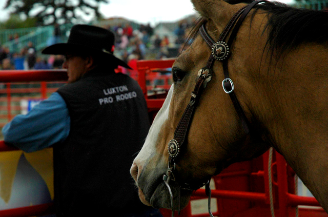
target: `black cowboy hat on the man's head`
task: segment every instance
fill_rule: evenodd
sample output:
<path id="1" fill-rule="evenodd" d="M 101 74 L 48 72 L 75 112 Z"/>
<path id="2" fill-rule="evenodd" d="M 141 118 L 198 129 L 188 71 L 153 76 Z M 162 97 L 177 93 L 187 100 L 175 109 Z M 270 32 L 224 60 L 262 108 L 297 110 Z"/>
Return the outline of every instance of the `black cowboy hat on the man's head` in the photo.
<path id="1" fill-rule="evenodd" d="M 128 64 L 113 55 L 114 33 L 111 31 L 89 25 L 74 25 L 71 29 L 67 43 L 59 43 L 45 48 L 44 54 L 62 54 L 72 51 L 88 51 L 108 56 L 113 63 L 131 69 Z"/>

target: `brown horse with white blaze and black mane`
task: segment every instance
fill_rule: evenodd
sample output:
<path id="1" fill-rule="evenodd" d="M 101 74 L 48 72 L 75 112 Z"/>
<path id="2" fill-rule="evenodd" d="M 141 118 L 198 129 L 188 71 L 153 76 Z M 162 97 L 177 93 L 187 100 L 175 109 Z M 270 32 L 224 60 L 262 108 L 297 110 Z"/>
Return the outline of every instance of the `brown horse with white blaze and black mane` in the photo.
<path id="1" fill-rule="evenodd" d="M 193 43 L 173 65 L 174 84 L 131 167 L 141 201 L 154 207 L 172 208 L 163 182 L 168 165 L 174 169 L 172 157 L 169 164 L 168 143 L 190 105 L 198 70 L 212 55 L 198 29 L 205 24 L 216 42 L 230 18 L 245 6 L 222 0 L 192 3 L 202 19 L 192 33 Z M 186 206 L 190 199 L 192 191 L 180 189 L 184 183 L 197 186 L 230 164 L 250 160 L 273 147 L 328 210 L 327 29 L 328 13 L 323 11 L 270 2 L 250 11 L 227 61 L 250 133 L 245 133 L 229 94 L 223 91 L 222 63 L 215 61 L 212 80 L 199 97 L 187 139 L 174 159 L 174 176 L 169 174 L 175 179 L 169 183 L 174 209 L 179 203 Z M 221 48 L 216 51 L 222 52 Z M 170 148 L 172 152 L 175 147 Z"/>

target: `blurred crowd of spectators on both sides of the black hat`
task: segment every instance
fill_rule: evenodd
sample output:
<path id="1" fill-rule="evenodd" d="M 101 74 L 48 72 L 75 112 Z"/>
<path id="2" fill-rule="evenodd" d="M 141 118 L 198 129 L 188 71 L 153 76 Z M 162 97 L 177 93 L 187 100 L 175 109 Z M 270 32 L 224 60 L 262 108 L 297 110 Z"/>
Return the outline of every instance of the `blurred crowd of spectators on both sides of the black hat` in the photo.
<path id="1" fill-rule="evenodd" d="M 178 49 L 184 42 L 188 29 L 193 25 L 194 21 L 181 21 L 178 27 L 172 32 L 171 36 L 160 36 L 154 32 L 154 29 L 147 25 L 140 25 L 138 29 L 134 29 L 129 23 L 124 25 L 107 26 L 115 34 L 115 55 L 120 57 L 132 68 L 136 69 L 136 61 L 145 58 L 167 58 L 175 57 L 169 52 L 170 49 Z M 59 28 L 55 25 L 52 43 L 58 43 Z M 173 35 L 173 36 L 172 36 Z M 9 41 L 14 40 L 14 44 L 19 43 L 17 34 L 9 35 Z M 16 43 L 17 42 L 17 43 Z M 21 46 L 20 46 L 21 47 Z M 28 42 L 26 46 L 18 52 L 15 47 L 0 45 L 0 70 L 8 69 L 60 69 L 64 62 L 61 55 L 45 56 L 40 54 L 32 42 Z M 151 54 L 151 55 L 149 55 Z"/>

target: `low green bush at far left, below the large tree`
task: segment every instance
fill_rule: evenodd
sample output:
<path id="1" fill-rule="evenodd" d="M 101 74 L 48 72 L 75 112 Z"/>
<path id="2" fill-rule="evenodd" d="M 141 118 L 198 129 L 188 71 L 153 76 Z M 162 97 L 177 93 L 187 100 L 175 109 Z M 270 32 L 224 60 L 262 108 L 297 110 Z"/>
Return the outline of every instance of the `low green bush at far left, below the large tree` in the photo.
<path id="1" fill-rule="evenodd" d="M 28 17 L 23 20 L 17 14 L 10 15 L 9 19 L 0 23 L 0 29 L 18 29 L 36 26 L 36 18 Z"/>

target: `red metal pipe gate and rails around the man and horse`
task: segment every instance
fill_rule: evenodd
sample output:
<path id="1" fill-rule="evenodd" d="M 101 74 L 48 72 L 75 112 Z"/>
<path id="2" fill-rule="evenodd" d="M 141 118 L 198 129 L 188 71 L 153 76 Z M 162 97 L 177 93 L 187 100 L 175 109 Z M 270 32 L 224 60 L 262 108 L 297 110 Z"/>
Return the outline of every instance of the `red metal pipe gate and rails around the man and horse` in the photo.
<path id="1" fill-rule="evenodd" d="M 164 84 L 157 86 L 168 89 L 171 79 L 168 75 L 154 75 L 154 69 L 170 68 L 174 60 L 161 61 L 138 61 L 137 81 L 145 94 L 149 113 L 152 117 L 162 106 L 165 94 L 147 95 L 152 90 L 156 79 L 164 80 Z M 45 82 L 66 81 L 65 70 L 29 70 L 0 71 L 0 82 L 7 83 L 7 100 L 10 102 L 11 89 L 10 82 L 43 82 L 40 88 L 44 88 L 47 93 Z M 150 84 L 147 86 L 147 82 Z M 9 87 L 9 90 L 8 90 Z M 52 91 L 52 90 L 51 90 Z M 51 92 L 48 90 L 48 92 Z M 4 93 L 4 92 L 1 92 Z M 42 95 L 46 98 L 46 94 Z M 7 105 L 10 107 L 10 103 Z M 11 116 L 8 115 L 8 120 Z M 0 142 L 0 151 L 16 150 Z M 270 163 L 270 161 L 272 163 Z M 271 178 L 270 178 L 271 177 Z M 266 152 L 252 161 L 236 163 L 224 169 L 219 175 L 212 179 L 212 211 L 214 216 L 221 217 L 248 217 L 248 216 L 325 216 L 328 214 L 320 207 L 313 197 L 299 196 L 295 194 L 295 172 L 286 164 L 283 156 L 273 151 Z M 297 183 L 297 182 L 296 182 Z M 215 189 L 213 189 L 215 188 Z M 200 199 L 206 199 L 204 189 L 194 192 L 191 203 L 181 211 L 181 217 L 201 217 L 209 216 L 207 210 L 195 213 L 195 203 Z M 301 205 L 302 207 L 298 207 Z M 207 203 L 202 205 L 207 207 Z M 306 207 L 304 207 L 306 206 Z M 0 216 L 37 216 L 54 212 L 53 203 L 41 204 L 29 207 L 0 210 Z M 161 209 L 162 214 L 171 216 L 171 211 Z M 177 213 L 176 213 L 177 216 Z"/>

